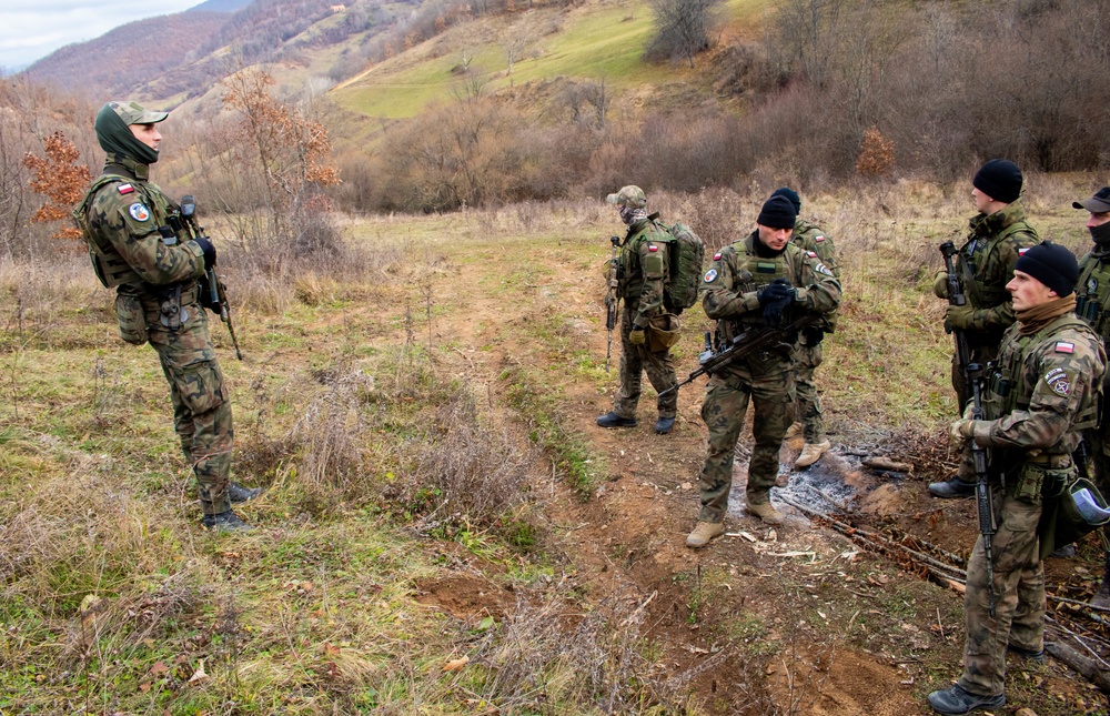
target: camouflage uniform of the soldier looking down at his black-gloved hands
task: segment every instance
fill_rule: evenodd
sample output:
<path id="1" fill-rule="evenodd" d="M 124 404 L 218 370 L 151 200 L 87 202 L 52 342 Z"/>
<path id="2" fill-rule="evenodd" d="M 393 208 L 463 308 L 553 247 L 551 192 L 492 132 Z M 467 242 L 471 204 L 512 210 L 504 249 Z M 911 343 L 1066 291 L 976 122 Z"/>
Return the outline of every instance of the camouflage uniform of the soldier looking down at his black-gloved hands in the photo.
<path id="1" fill-rule="evenodd" d="M 717 321 L 722 344 L 763 323 L 757 292 L 775 279 L 786 279 L 797 288 L 795 303 L 788 310 L 794 315 L 786 315 L 784 323 L 800 317 L 804 311 L 829 313 L 840 301 L 840 283 L 820 261 L 793 244 L 787 244 L 778 256 L 761 258 L 756 254 L 757 241 L 758 231 L 724 248 L 714 255 L 703 278 L 702 305 L 706 315 Z M 709 379 L 702 404 L 709 441 L 699 482 L 699 522 L 724 520 L 733 484 L 733 454 L 749 400 L 755 402 L 755 448 L 748 466 L 747 500 L 749 505 L 770 500 L 794 399 L 795 345 L 780 343 L 734 362 Z"/>

